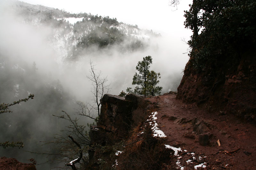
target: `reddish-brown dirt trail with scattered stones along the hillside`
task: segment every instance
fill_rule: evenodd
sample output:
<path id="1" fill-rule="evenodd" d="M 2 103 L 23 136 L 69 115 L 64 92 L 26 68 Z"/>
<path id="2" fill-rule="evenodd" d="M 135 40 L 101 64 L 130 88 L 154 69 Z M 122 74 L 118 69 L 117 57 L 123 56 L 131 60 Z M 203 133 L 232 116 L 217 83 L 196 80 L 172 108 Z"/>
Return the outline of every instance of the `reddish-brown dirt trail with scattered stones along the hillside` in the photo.
<path id="1" fill-rule="evenodd" d="M 223 112 L 209 113 L 195 104 L 184 104 L 175 96 L 148 99 L 158 112 L 156 122 L 167 136 L 165 143 L 182 149 L 172 165 L 184 170 L 199 164 L 206 165 L 201 169 L 256 169 L 255 125 L 241 123 Z"/>

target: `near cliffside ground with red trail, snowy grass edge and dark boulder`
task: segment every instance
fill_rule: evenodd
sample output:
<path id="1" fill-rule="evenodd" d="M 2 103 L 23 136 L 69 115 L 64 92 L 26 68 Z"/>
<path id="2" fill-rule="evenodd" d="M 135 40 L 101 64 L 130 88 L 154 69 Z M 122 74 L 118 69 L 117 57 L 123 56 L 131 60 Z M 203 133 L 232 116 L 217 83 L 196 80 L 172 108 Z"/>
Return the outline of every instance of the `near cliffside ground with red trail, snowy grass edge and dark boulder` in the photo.
<path id="1" fill-rule="evenodd" d="M 141 99 L 104 96 L 87 169 L 255 169 L 254 125 L 185 104 L 175 92 L 145 99 L 144 115 Z"/>

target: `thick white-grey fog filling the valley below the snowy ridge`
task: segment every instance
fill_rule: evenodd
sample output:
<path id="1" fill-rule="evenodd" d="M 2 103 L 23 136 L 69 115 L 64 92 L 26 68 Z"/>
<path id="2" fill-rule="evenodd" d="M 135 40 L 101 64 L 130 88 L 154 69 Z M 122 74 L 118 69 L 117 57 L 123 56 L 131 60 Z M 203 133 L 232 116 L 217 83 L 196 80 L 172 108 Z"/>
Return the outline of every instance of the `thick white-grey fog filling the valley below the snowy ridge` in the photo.
<path id="1" fill-rule="evenodd" d="M 62 115 L 61 110 L 72 115 L 76 101 L 91 102 L 92 82 L 86 78 L 90 75 L 90 60 L 95 64 L 96 72 L 101 70 L 102 77 L 107 76 L 109 93 L 115 95 L 132 87 L 135 67 L 145 56 L 153 58 L 150 70 L 161 73 L 162 94 L 177 91 L 188 61 L 187 54 L 182 54 L 187 52 L 188 46 L 180 43 L 177 50 L 172 38 L 164 35 L 144 39 L 142 42 L 145 41 L 147 46 L 142 49 L 120 52 L 119 46 L 110 46 L 68 60 L 54 45 L 58 42 L 50 41 L 56 33 L 52 24 L 24 22 L 24 15 L 18 15 L 6 1 L 0 5 L 0 23 L 0 102 L 12 103 L 28 97 L 29 93 L 35 95 L 33 100 L 10 107 L 12 113 L 0 115 L 0 142 L 24 142 L 22 149 L 0 148 L 0 156 L 22 162 L 28 162 L 30 158 L 35 158 L 38 164 L 47 161 L 45 156 L 24 151 L 53 149 L 53 146 L 41 146 L 40 141 L 50 141 L 54 134 L 64 133 L 60 130 L 65 129 L 68 122 L 52 115 Z M 80 122 L 93 121 L 83 118 Z M 49 169 L 49 166 L 44 164 L 37 168 Z"/>

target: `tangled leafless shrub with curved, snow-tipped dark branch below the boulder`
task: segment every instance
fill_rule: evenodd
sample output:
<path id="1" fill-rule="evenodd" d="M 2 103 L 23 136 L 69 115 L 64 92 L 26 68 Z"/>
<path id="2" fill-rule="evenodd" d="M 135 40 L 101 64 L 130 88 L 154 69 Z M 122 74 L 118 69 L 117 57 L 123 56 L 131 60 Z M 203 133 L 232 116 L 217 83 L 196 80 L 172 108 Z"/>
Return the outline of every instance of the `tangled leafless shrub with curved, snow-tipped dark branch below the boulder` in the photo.
<path id="1" fill-rule="evenodd" d="M 53 115 L 62 120 L 68 121 L 70 124 L 66 130 L 61 130 L 63 133 L 55 135 L 52 141 L 40 141 L 45 144 L 53 144 L 55 147 L 53 150 L 44 152 L 31 152 L 35 154 L 45 155 L 50 159 L 47 162 L 66 163 L 66 166 L 70 166 L 73 170 L 76 169 L 75 164 L 81 167 L 87 166 L 88 163 L 88 150 L 91 145 L 90 137 L 87 130 L 90 128 L 90 124 L 79 125 L 78 119 L 72 119 L 67 112 L 62 111 L 64 115 Z M 65 133 L 65 135 L 64 135 Z M 68 139 L 67 136 L 71 139 Z M 75 144 L 75 145 L 74 145 Z M 77 159 L 76 159 L 77 158 Z M 70 161 L 72 160 L 72 161 Z M 43 163 L 42 163 L 43 164 Z M 60 167 L 61 169 L 69 169 Z"/>

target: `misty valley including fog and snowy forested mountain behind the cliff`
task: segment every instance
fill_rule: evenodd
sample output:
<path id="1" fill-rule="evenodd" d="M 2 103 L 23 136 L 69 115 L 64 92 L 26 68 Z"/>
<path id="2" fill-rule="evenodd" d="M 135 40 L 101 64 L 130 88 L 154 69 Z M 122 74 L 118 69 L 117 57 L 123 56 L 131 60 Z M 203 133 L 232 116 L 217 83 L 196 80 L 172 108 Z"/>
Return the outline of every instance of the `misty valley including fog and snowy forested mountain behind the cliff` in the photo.
<path id="1" fill-rule="evenodd" d="M 125 95 L 130 86 L 130 92 L 136 90 L 140 76 L 134 84 L 132 78 L 144 57 L 152 56 L 154 70 L 147 77 L 153 84 L 147 95 L 177 91 L 182 78 L 185 63 L 169 56 L 161 34 L 116 18 L 10 1 L 1 7 L 0 21 L 0 103 L 34 95 L 8 110 L 1 108 L 11 111 L 0 115 L 1 145 L 23 144 L 5 143 L 0 154 L 20 162 L 33 158 L 37 169 L 67 168 L 64 164 L 77 157 L 68 135 L 85 140 L 81 145 L 86 149 L 90 139 L 81 136 L 88 135 L 100 116 L 101 97 Z M 139 91 L 146 96 L 146 89 Z"/>

